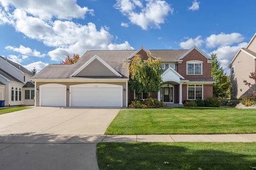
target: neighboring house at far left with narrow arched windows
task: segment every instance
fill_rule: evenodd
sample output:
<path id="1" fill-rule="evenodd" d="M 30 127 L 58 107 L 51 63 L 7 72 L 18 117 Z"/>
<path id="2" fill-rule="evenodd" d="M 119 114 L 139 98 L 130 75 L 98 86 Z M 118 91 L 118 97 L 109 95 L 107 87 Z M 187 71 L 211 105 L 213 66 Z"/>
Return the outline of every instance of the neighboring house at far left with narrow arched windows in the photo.
<path id="1" fill-rule="evenodd" d="M 5 100 L 5 106 L 34 105 L 33 76 L 20 64 L 0 56 L 0 100 Z"/>

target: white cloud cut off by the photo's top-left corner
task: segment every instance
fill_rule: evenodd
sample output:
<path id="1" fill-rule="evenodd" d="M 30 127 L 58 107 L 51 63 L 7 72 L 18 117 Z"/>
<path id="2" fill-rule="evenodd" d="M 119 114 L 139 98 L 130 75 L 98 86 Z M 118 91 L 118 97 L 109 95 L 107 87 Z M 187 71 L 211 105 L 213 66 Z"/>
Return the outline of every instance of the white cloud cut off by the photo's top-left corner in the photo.
<path id="1" fill-rule="evenodd" d="M 81 7 L 76 0 L 62 1 L 62 0 L 45 0 L 45 1 L 26 1 L 26 0 L 0 0 L 0 4 L 8 10 L 14 6 L 29 14 L 32 14 L 43 20 L 57 19 L 84 19 L 85 14 L 93 15 L 93 10 L 88 7 Z"/>

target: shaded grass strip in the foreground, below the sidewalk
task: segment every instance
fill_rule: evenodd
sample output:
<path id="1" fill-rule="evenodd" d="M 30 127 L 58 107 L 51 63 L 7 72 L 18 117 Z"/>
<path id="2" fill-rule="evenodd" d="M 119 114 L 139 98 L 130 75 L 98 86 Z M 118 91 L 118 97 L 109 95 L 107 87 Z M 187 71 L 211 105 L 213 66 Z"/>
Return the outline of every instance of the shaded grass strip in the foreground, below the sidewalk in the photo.
<path id="1" fill-rule="evenodd" d="M 247 170 L 256 166 L 255 148 L 256 143 L 98 143 L 97 157 L 101 170 Z"/>

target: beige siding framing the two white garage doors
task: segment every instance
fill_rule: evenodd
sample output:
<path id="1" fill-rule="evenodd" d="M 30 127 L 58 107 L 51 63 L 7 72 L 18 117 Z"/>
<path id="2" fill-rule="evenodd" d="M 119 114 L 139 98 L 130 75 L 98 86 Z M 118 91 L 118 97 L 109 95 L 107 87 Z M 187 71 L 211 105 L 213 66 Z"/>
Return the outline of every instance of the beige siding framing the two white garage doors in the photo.
<path id="1" fill-rule="evenodd" d="M 71 85 L 77 85 L 77 84 L 92 84 L 92 83 L 98 83 L 98 84 L 114 84 L 114 85 L 121 85 L 126 90 L 126 82 L 36 82 L 36 89 L 39 89 L 40 85 L 43 84 L 50 84 L 50 83 L 57 83 L 57 84 L 63 84 L 66 85 L 68 89 L 70 89 L 69 86 Z M 69 93 L 67 93 L 66 96 L 67 106 L 69 106 Z M 126 105 L 126 91 L 123 91 L 123 107 Z M 36 106 L 39 106 L 39 91 L 36 92 Z"/>

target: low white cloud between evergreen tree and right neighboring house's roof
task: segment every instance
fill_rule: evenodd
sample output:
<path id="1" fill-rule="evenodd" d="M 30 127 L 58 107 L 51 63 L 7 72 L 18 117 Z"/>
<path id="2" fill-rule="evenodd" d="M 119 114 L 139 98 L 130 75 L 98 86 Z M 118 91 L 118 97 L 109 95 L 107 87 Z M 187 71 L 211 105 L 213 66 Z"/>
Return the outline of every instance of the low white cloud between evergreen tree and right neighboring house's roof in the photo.
<path id="1" fill-rule="evenodd" d="M 234 58 L 235 54 L 238 52 L 239 48 L 245 47 L 247 43 L 239 43 L 235 46 L 222 46 L 219 47 L 217 50 L 211 52 L 216 53 L 218 56 L 218 60 L 221 63 L 221 66 L 225 71 L 229 71 L 228 64 L 231 62 L 231 60 Z"/>

